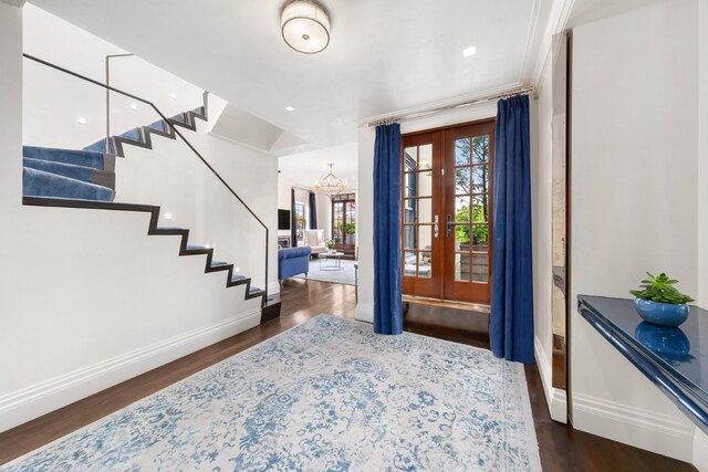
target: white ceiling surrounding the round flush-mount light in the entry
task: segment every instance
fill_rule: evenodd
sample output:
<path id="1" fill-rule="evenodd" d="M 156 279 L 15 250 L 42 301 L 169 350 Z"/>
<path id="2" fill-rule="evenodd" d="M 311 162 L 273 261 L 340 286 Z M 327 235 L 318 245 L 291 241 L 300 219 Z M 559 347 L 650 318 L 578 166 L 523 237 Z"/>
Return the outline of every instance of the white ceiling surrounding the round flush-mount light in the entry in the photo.
<path id="1" fill-rule="evenodd" d="M 332 41 L 314 55 L 281 39 L 284 0 L 32 3 L 285 130 L 270 151 L 287 155 L 352 143 L 366 117 L 528 83 L 553 1 L 321 0 Z"/>

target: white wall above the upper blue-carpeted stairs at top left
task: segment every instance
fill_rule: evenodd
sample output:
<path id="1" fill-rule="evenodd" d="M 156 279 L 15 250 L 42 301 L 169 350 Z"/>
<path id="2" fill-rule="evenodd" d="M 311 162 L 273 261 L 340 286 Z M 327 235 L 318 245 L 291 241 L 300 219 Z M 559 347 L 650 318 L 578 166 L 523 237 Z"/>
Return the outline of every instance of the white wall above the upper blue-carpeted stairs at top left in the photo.
<path id="1" fill-rule="evenodd" d="M 23 35 L 25 53 L 101 83 L 105 56 L 126 53 L 32 4 L 24 7 Z M 111 86 L 153 102 L 167 117 L 202 105 L 199 87 L 137 56 L 111 60 Z M 24 60 L 23 94 L 25 145 L 82 148 L 105 137 L 105 88 Z M 159 118 L 148 105 L 111 94 L 111 134 Z"/>

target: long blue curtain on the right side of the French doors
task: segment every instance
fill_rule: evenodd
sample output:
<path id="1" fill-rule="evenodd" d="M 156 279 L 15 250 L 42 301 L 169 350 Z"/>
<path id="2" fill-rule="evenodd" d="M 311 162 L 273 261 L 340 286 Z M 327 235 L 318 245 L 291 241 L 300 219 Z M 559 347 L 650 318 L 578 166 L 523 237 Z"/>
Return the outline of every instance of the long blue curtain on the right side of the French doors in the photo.
<path id="1" fill-rule="evenodd" d="M 497 357 L 533 361 L 529 97 L 497 105 L 489 337 Z"/>

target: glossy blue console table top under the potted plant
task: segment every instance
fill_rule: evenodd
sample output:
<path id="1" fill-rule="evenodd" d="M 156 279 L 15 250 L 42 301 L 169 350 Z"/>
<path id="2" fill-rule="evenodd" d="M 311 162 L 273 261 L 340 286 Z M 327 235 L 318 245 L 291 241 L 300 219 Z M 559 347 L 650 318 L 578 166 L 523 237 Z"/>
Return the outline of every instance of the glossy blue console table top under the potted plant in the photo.
<path id="1" fill-rule="evenodd" d="M 677 328 L 643 321 L 634 302 L 579 295 L 580 314 L 708 433 L 708 311 Z"/>

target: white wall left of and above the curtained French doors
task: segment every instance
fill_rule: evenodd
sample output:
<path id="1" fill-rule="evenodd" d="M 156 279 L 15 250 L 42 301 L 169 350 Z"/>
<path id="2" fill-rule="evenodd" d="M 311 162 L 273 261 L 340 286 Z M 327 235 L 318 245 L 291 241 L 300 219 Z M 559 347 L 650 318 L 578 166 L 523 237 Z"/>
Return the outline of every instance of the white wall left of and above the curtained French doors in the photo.
<path id="1" fill-rule="evenodd" d="M 402 123 L 400 133 L 414 133 L 497 115 L 496 104 L 485 104 Z M 356 319 L 374 321 L 374 141 L 375 128 L 358 130 L 358 303 Z"/>

